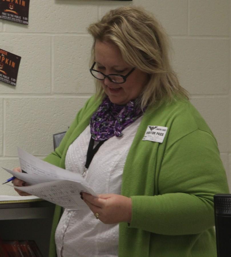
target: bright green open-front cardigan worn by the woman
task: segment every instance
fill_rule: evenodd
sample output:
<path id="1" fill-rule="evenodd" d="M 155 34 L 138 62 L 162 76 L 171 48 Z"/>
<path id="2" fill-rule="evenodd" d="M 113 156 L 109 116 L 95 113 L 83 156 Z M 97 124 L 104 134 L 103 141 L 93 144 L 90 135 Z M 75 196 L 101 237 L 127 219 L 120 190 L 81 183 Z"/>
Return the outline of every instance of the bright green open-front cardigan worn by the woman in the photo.
<path id="1" fill-rule="evenodd" d="M 94 96 L 87 101 L 47 162 L 65 168 L 69 145 L 99 104 Z M 168 128 L 162 143 L 142 140 L 148 125 Z M 228 192 L 216 139 L 190 102 L 149 107 L 124 165 L 121 194 L 132 198 L 132 220 L 119 224 L 118 255 L 215 257 L 213 195 Z M 60 215 L 57 206 L 49 257 Z"/>

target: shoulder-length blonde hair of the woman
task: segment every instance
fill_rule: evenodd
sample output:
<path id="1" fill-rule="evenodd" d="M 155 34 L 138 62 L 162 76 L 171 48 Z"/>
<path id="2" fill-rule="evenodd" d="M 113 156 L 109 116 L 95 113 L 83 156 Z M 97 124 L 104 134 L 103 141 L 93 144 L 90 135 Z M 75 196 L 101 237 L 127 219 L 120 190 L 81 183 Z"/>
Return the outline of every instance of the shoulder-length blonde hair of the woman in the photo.
<path id="1" fill-rule="evenodd" d="M 98 39 L 117 45 L 128 65 L 148 74 L 149 80 L 139 99 L 142 108 L 166 98 L 188 98 L 170 65 L 168 36 L 158 21 L 141 7 L 111 10 L 99 22 L 91 24 L 88 32 L 94 38 L 91 61 L 95 61 Z M 96 93 L 98 97 L 105 95 L 99 81 L 96 81 Z"/>

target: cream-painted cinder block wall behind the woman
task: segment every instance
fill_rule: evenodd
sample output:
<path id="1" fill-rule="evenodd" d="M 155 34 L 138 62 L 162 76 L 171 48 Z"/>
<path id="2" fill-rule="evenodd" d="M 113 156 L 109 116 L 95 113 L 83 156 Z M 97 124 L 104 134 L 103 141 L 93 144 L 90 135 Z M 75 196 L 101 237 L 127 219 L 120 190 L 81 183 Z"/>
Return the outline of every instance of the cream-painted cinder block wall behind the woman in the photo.
<path id="1" fill-rule="evenodd" d="M 230 180 L 231 0 L 30 0 L 29 25 L 0 20 L 0 48 L 21 56 L 17 86 L 0 82 L 0 166 L 17 146 L 45 157 L 94 93 L 86 27 L 109 9 L 142 5 L 171 36 L 180 82 L 214 132 Z M 9 174 L 0 171 L 0 182 Z M 231 183 L 230 183 L 231 184 Z M 16 195 L 0 185 L 0 194 Z"/>

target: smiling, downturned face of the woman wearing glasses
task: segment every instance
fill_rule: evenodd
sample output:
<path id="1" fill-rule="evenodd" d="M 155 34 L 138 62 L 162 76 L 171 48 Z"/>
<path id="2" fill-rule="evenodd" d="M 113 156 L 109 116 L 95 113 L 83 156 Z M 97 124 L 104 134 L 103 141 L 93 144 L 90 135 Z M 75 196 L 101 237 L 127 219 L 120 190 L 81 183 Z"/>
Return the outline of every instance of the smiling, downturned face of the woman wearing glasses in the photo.
<path id="1" fill-rule="evenodd" d="M 95 61 L 94 69 L 101 71 L 105 75 L 120 74 L 126 75 L 134 68 L 126 65 L 122 59 L 119 48 L 108 42 L 96 40 L 95 43 Z M 126 79 L 125 83 L 116 84 L 108 78 L 101 81 L 106 95 L 112 103 L 125 105 L 131 100 L 136 99 L 142 92 L 147 81 L 147 74 L 135 69 Z"/>

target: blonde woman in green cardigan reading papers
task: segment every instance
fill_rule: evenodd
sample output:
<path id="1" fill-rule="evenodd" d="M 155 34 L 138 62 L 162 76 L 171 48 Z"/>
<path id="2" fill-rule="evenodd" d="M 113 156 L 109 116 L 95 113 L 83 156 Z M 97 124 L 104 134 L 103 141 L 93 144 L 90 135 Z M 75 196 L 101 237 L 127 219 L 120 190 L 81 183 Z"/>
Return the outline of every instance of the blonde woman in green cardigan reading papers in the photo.
<path id="1" fill-rule="evenodd" d="M 45 160 L 81 173 L 99 197 L 81 193 L 89 209 L 62 216 L 57 206 L 49 256 L 215 257 L 213 195 L 228 192 L 226 175 L 162 27 L 121 7 L 88 31 L 97 93 Z"/>

